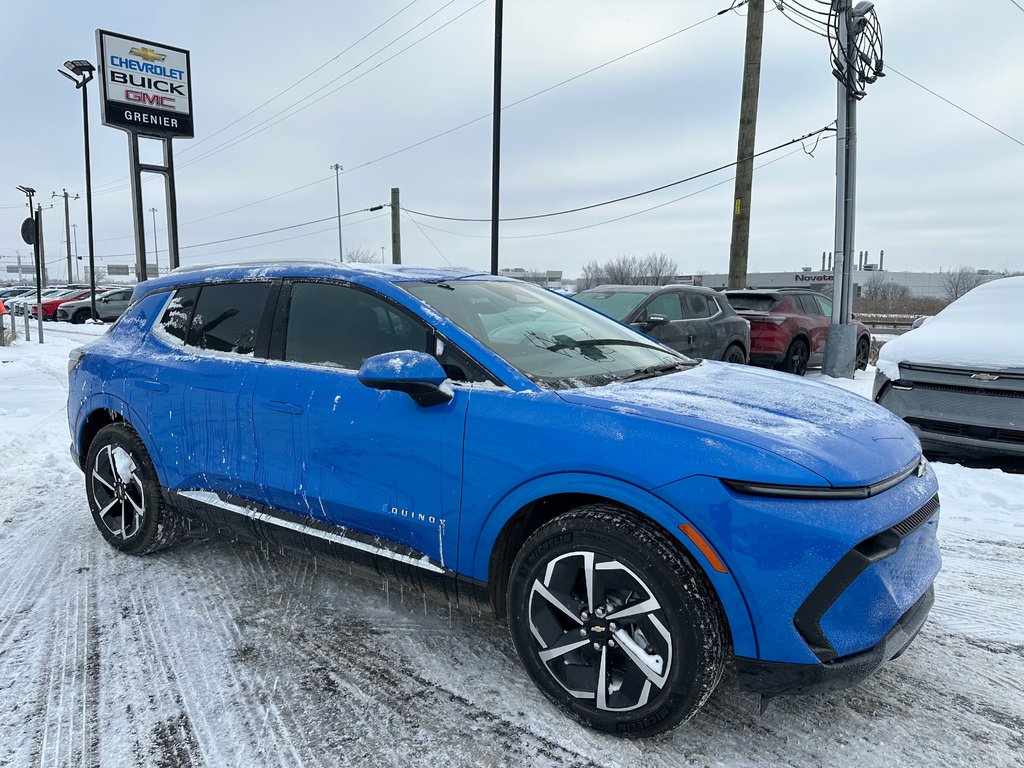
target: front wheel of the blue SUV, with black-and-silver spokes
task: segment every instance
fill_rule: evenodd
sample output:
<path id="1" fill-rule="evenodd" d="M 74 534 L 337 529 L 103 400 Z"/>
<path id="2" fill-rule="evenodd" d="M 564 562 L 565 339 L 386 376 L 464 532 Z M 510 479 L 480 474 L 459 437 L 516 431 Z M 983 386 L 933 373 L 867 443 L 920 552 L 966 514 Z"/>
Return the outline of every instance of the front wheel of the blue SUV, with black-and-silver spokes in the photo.
<path id="1" fill-rule="evenodd" d="M 597 730 L 674 728 L 722 676 L 725 623 L 707 578 L 617 507 L 580 507 L 538 529 L 512 565 L 508 606 L 534 683 Z"/>

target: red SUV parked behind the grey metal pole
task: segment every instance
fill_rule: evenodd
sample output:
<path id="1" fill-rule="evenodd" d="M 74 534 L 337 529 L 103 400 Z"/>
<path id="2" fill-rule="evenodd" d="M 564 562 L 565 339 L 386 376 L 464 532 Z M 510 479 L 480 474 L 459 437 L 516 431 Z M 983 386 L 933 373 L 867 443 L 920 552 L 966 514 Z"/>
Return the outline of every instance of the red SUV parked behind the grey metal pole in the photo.
<path id="1" fill-rule="evenodd" d="M 751 323 L 751 362 L 803 376 L 820 366 L 831 324 L 831 299 L 815 291 L 726 291 L 736 314 Z M 857 326 L 857 368 L 867 368 L 871 334 Z"/>

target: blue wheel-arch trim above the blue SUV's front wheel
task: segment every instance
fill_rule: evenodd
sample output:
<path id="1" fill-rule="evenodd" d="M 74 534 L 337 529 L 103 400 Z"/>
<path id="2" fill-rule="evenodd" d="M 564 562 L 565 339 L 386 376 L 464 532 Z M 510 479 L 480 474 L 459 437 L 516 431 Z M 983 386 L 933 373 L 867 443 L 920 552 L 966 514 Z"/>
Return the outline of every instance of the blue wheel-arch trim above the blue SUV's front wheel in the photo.
<path id="1" fill-rule="evenodd" d="M 480 534 L 475 546 L 470 544 L 473 574 L 486 580 L 490 565 L 490 554 L 495 547 L 498 535 L 516 512 L 530 502 L 536 502 L 544 497 L 558 494 L 588 494 L 599 496 L 624 506 L 638 510 L 649 520 L 655 522 L 659 527 L 669 532 L 679 542 L 693 561 L 703 570 L 705 575 L 711 582 L 712 587 L 718 593 L 719 600 L 725 610 L 729 621 L 729 629 L 732 632 L 732 644 L 736 655 L 757 658 L 757 637 L 754 632 L 754 625 L 751 621 L 750 610 L 746 601 L 732 575 L 732 569 L 725 561 L 723 553 L 719 552 L 719 557 L 723 557 L 723 562 L 728 573 L 720 573 L 717 570 L 706 567 L 707 559 L 696 549 L 692 542 L 687 539 L 679 529 L 684 523 L 693 525 L 697 530 L 699 525 L 687 519 L 679 510 L 670 506 L 643 488 L 632 485 L 622 480 L 583 472 L 560 472 L 558 474 L 545 475 L 534 478 L 509 492 L 501 502 L 490 511 L 486 520 L 480 526 Z"/>

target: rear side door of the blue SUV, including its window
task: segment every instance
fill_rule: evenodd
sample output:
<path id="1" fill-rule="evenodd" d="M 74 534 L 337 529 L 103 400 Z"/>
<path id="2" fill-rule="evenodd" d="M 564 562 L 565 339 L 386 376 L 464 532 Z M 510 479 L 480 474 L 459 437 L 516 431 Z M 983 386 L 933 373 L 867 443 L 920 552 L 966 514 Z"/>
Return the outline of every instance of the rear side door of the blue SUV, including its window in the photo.
<path id="1" fill-rule="evenodd" d="M 252 398 L 269 281 L 190 286 L 170 297 L 126 379 L 169 487 L 258 498 Z M 264 343 L 265 346 L 265 343 Z"/>

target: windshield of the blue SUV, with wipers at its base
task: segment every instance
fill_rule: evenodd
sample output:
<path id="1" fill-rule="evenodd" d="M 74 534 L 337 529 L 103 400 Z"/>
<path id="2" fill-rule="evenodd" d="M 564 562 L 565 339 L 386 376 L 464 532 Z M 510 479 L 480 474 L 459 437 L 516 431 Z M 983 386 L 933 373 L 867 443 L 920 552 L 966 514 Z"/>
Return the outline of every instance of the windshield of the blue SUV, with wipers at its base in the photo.
<path id="1" fill-rule="evenodd" d="M 550 389 L 669 373 L 692 361 L 562 296 L 523 283 L 401 287 Z"/>

